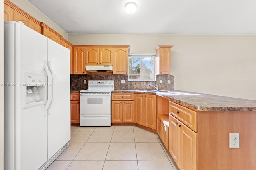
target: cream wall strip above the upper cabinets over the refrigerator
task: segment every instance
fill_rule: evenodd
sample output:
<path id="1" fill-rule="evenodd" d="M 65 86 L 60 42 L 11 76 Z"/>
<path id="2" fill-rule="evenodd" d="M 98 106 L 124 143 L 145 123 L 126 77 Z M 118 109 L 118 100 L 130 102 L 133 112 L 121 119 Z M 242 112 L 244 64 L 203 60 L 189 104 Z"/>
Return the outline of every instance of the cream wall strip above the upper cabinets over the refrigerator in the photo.
<path id="1" fill-rule="evenodd" d="M 68 39 L 68 33 L 66 33 L 63 29 L 61 29 L 56 23 L 50 20 L 47 16 L 45 16 L 42 12 L 40 12 L 35 6 L 33 6 L 28 0 L 10 0 L 16 6 L 20 7 L 22 10 L 36 18 L 36 20 L 40 22 L 46 23 L 49 27 L 54 29 L 54 31 L 58 32 L 63 36 L 64 39 Z"/>

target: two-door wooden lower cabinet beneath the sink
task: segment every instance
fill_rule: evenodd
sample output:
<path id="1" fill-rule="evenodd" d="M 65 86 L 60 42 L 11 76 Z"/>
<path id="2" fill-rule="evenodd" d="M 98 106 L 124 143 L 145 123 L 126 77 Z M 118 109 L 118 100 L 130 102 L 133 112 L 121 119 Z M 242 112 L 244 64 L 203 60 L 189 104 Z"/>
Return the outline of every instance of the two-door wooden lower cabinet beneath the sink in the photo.
<path id="1" fill-rule="evenodd" d="M 155 94 L 134 94 L 134 123 L 156 130 Z"/>

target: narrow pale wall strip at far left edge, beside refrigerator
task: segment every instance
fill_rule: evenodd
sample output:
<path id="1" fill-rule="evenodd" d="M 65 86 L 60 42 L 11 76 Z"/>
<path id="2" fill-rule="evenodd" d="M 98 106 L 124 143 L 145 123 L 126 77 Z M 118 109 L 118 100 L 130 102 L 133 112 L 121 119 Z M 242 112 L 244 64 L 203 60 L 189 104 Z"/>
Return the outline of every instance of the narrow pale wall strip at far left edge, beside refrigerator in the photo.
<path id="1" fill-rule="evenodd" d="M 4 0 L 0 0 L 4 14 Z M 0 15 L 0 84 L 4 82 L 4 15 Z M 4 86 L 0 86 L 0 170 L 4 170 Z"/>

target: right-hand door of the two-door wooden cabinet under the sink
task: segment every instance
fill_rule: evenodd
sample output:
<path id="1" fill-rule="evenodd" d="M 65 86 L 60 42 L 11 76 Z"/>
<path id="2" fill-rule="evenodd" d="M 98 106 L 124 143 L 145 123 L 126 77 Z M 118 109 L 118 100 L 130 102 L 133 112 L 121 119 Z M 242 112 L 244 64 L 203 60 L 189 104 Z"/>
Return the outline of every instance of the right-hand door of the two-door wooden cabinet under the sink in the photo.
<path id="1" fill-rule="evenodd" d="M 144 95 L 144 126 L 156 130 L 156 95 Z"/>

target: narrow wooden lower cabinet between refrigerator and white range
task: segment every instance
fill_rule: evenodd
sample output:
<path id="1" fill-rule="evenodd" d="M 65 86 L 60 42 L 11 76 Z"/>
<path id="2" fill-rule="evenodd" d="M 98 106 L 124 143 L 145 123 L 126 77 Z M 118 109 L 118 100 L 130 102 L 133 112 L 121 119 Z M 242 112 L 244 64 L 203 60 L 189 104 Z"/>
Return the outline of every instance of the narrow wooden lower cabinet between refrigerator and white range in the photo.
<path id="1" fill-rule="evenodd" d="M 80 94 L 70 94 L 70 122 L 80 123 Z"/>

